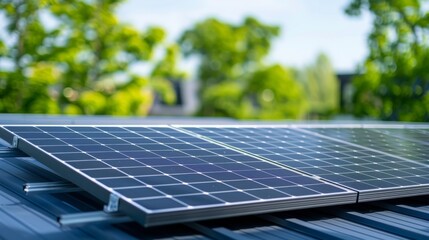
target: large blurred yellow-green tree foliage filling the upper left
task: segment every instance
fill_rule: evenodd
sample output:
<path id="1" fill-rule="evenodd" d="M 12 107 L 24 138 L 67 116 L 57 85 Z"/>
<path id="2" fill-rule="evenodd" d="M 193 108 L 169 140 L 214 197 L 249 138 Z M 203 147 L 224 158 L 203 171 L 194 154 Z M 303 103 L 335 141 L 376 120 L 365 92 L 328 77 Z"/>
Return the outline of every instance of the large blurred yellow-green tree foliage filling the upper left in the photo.
<path id="1" fill-rule="evenodd" d="M 165 32 L 120 23 L 114 12 L 121 2 L 0 0 L 8 34 L 0 39 L 7 66 L 0 69 L 0 112 L 145 115 L 154 90 L 174 102 L 166 78 L 183 75 L 177 46 L 152 63 L 152 76 L 131 73 L 152 59 Z"/>

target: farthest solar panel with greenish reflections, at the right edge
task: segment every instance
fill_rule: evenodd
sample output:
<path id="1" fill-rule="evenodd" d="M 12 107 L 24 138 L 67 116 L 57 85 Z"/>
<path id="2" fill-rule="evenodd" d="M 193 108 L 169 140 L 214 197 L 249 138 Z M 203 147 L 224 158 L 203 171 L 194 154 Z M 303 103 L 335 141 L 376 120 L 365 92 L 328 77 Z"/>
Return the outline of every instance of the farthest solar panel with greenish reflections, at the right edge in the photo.
<path id="1" fill-rule="evenodd" d="M 429 165 L 429 134 L 424 129 L 342 127 L 308 131 Z"/>

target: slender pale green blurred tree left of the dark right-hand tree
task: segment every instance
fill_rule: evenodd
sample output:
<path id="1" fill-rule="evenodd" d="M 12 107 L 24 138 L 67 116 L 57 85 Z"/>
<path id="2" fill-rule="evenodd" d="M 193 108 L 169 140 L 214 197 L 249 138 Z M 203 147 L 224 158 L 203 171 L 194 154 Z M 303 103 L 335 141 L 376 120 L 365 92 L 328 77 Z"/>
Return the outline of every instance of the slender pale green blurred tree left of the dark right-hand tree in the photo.
<path id="1" fill-rule="evenodd" d="M 316 62 L 302 71 L 297 78 L 303 84 L 309 104 L 309 119 L 324 119 L 339 110 L 339 80 L 325 54 L 320 54 Z"/>

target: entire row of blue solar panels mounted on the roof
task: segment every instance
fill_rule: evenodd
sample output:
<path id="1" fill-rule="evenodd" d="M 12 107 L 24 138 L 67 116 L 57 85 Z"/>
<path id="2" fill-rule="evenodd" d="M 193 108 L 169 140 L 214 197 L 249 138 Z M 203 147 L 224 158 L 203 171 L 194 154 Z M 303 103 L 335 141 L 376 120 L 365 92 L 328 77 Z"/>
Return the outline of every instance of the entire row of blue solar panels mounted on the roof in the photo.
<path id="1" fill-rule="evenodd" d="M 146 226 L 429 191 L 429 127 L 3 126 Z"/>

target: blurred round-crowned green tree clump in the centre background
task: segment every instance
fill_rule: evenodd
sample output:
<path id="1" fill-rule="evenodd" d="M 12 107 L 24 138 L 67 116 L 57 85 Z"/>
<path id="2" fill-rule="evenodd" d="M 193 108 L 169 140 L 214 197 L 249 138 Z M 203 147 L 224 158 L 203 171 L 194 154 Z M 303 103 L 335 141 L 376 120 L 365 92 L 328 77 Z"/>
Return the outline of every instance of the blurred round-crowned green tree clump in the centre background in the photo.
<path id="1" fill-rule="evenodd" d="M 248 17 L 233 25 L 217 19 L 196 23 L 180 44 L 185 56 L 198 56 L 200 115 L 252 119 L 301 118 L 303 90 L 290 70 L 264 66 L 277 26 Z"/>

